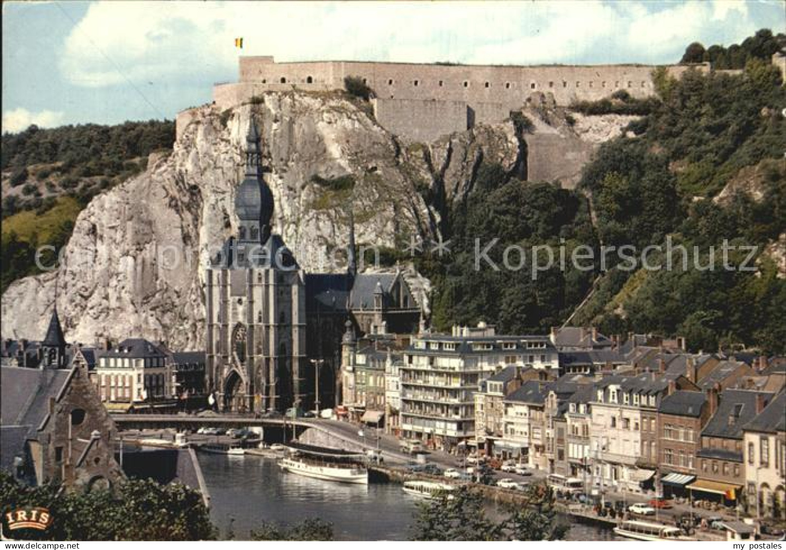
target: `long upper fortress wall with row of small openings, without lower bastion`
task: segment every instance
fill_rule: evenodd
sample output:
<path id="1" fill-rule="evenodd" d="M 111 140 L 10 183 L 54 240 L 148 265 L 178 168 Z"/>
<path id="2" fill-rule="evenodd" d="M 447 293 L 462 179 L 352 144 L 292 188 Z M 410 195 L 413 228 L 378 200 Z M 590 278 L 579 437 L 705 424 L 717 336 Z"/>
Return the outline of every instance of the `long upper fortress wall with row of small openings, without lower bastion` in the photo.
<path id="1" fill-rule="evenodd" d="M 241 82 L 268 90 L 336 90 L 345 76 L 365 79 L 378 97 L 386 99 L 441 99 L 467 103 L 523 103 L 534 91 L 551 92 L 557 105 L 575 100 L 597 100 L 615 90 L 634 97 L 655 93 L 652 65 L 445 65 L 310 61 L 274 63 L 270 57 L 241 57 Z M 700 70 L 707 70 L 700 65 Z M 667 66 L 678 76 L 688 69 Z M 282 82 L 283 81 L 283 82 Z"/>

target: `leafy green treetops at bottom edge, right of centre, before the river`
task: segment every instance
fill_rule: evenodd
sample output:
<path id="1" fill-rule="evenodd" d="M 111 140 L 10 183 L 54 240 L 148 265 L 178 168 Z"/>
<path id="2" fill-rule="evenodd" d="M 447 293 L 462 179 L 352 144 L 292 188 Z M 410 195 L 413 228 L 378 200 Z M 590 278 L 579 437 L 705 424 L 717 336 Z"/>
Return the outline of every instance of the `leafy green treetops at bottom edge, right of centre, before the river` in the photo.
<path id="1" fill-rule="evenodd" d="M 467 487 L 419 507 L 413 541 L 556 541 L 568 529 L 558 522 L 553 493 L 543 485 L 531 486 L 526 502 L 501 521 L 490 519 L 483 497 Z"/>

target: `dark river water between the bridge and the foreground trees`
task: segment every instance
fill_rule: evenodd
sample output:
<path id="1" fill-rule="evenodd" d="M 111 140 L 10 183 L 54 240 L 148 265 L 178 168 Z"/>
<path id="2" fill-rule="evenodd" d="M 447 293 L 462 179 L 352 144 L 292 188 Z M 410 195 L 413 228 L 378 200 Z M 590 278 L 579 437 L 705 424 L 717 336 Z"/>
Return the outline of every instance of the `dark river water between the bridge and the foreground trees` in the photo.
<path id="1" fill-rule="evenodd" d="M 211 517 L 226 536 L 237 539 L 263 521 L 295 523 L 320 518 L 333 524 L 338 541 L 405 541 L 410 537 L 418 499 L 395 483 L 347 485 L 283 472 L 274 460 L 199 453 L 211 496 Z M 566 519 L 566 521 L 569 521 Z M 573 541 L 614 540 L 610 530 L 574 523 Z"/>

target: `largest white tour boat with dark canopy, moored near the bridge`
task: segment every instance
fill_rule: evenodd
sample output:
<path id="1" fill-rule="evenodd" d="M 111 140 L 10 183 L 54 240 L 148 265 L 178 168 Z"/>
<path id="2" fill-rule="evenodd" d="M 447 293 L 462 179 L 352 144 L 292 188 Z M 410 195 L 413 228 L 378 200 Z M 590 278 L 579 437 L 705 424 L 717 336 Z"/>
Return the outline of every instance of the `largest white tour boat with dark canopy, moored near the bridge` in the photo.
<path id="1" fill-rule="evenodd" d="M 288 454 L 278 464 L 284 471 L 307 478 L 342 483 L 368 484 L 369 470 L 363 453 L 318 447 L 304 443 L 287 443 Z"/>

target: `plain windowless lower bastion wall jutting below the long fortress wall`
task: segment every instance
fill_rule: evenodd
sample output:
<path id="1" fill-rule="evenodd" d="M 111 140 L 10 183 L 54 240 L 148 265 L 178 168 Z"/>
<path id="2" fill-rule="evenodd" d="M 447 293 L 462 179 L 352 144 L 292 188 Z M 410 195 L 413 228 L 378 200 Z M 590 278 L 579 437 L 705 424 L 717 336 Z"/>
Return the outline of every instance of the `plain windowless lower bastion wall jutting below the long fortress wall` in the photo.
<path id="1" fill-rule="evenodd" d="M 467 104 L 463 101 L 377 98 L 373 105 L 382 127 L 413 141 L 434 141 L 468 128 Z"/>

